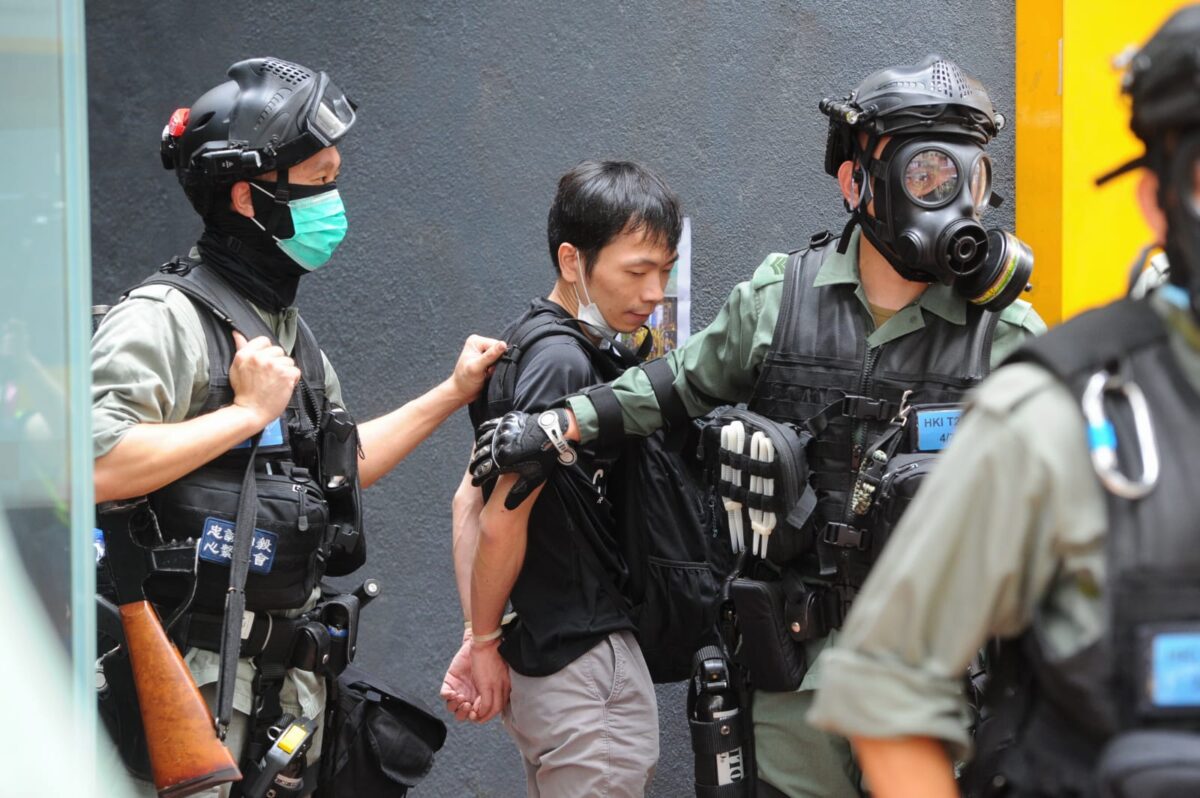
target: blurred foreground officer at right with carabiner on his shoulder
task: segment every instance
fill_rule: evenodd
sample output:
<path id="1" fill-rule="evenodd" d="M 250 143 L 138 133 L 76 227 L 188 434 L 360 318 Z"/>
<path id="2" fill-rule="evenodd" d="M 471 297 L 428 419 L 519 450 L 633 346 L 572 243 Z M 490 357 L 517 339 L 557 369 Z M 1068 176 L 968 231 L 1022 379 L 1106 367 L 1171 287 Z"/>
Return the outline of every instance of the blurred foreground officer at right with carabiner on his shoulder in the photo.
<path id="1" fill-rule="evenodd" d="M 956 796 L 956 674 L 1000 641 L 978 796 L 1200 794 L 1200 6 L 1130 60 L 1138 199 L 1170 260 L 973 396 L 828 652 L 814 725 L 874 794 Z"/>

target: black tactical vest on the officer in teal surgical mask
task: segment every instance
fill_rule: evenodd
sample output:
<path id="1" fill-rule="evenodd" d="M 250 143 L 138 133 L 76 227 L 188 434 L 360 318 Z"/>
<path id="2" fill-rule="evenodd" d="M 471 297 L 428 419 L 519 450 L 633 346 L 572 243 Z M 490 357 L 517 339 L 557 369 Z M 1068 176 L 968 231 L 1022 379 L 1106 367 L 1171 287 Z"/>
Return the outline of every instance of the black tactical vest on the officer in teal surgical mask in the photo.
<path id="1" fill-rule="evenodd" d="M 252 307 L 203 264 L 176 259 L 142 284 L 167 284 L 187 295 L 197 310 L 209 355 L 209 389 L 200 413 L 233 402 L 229 367 L 234 358 L 230 329 L 247 338 L 274 335 Z M 256 455 L 258 492 L 254 541 L 246 580 L 246 607 L 289 610 L 308 601 L 326 572 L 346 574 L 361 564 L 361 510 L 356 467 L 349 480 L 330 490 L 329 463 L 337 442 L 326 431 L 336 426 L 325 397 L 325 368 L 312 331 L 298 319 L 292 352 L 301 379 L 283 415 L 266 427 Z M 342 413 L 344 416 L 344 413 Z M 355 450 L 353 421 L 349 446 Z M 229 587 L 229 562 L 238 499 L 248 463 L 248 442 L 166 485 L 149 497 L 131 526 L 142 542 L 196 541 L 197 569 L 191 608 L 220 614 Z M 176 578 L 146 584 L 148 595 L 167 605 L 188 599 L 191 586 Z"/>

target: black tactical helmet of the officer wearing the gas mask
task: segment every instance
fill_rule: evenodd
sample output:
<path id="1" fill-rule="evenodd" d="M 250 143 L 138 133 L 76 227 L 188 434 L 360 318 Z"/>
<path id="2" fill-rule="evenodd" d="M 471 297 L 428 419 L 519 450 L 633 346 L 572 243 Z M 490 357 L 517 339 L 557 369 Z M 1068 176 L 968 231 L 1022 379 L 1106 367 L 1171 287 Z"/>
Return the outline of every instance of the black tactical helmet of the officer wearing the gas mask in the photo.
<path id="1" fill-rule="evenodd" d="M 821 101 L 829 116 L 826 172 L 836 176 L 853 160 L 856 134 L 872 140 L 896 133 L 968 136 L 986 144 L 1004 126 L 983 84 L 940 55 L 919 64 L 880 70 L 842 100 Z"/>

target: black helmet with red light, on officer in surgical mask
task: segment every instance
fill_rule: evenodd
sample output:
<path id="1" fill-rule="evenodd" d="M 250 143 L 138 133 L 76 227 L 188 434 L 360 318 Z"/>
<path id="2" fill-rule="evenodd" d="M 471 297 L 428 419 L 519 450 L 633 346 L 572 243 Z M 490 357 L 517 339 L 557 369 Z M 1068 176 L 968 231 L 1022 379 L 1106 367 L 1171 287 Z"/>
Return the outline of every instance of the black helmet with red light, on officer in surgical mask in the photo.
<path id="1" fill-rule="evenodd" d="M 162 164 L 200 215 L 214 190 L 300 163 L 337 144 L 355 119 L 356 104 L 324 72 L 256 58 L 228 74 L 162 131 Z"/>

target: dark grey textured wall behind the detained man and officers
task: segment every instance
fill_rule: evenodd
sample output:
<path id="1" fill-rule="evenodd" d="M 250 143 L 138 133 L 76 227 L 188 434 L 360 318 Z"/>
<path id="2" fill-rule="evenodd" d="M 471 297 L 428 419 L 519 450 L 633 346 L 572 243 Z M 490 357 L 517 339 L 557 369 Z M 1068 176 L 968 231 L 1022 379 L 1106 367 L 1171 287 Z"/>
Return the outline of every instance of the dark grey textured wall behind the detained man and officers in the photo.
<path id="1" fill-rule="evenodd" d="M 371 418 L 445 377 L 462 338 L 550 288 L 556 179 L 617 156 L 660 169 L 694 229 L 694 323 L 770 251 L 844 223 L 821 169 L 826 95 L 940 52 L 1013 119 L 1012 0 L 88 4 L 94 292 L 114 296 L 199 229 L 157 140 L 172 109 L 250 55 L 324 68 L 361 104 L 340 186 L 350 233 L 300 292 L 352 409 Z M 995 144 L 1012 196 L 1013 138 Z M 995 212 L 1012 223 L 1012 204 Z M 386 594 L 362 662 L 437 706 L 460 612 L 449 502 L 469 445 L 456 415 L 367 494 Z M 683 691 L 660 692 L 652 793 L 690 793 Z M 497 724 L 452 725 L 418 794 L 523 794 Z"/>

